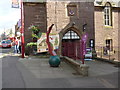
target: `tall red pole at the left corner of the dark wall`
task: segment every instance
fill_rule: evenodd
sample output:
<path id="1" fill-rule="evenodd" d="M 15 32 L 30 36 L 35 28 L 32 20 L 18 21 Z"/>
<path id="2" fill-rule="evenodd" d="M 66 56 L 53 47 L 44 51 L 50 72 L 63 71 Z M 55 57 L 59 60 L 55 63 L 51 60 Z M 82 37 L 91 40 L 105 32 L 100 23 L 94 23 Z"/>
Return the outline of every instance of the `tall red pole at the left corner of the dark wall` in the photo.
<path id="1" fill-rule="evenodd" d="M 23 21 L 23 2 L 21 0 L 21 46 L 22 46 L 22 58 L 24 58 L 24 21 Z"/>

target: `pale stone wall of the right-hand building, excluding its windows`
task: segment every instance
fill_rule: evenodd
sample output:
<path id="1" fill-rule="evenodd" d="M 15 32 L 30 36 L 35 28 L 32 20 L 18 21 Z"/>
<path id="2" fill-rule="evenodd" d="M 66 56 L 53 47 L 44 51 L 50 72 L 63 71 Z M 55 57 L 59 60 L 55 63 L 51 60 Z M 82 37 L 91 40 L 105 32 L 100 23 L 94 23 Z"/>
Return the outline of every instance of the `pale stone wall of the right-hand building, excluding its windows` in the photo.
<path id="1" fill-rule="evenodd" d="M 113 51 L 115 51 L 115 59 L 118 60 L 118 9 L 112 8 L 112 26 L 104 25 L 104 8 L 95 7 L 95 45 L 97 47 L 105 46 L 106 39 L 113 40 Z"/>

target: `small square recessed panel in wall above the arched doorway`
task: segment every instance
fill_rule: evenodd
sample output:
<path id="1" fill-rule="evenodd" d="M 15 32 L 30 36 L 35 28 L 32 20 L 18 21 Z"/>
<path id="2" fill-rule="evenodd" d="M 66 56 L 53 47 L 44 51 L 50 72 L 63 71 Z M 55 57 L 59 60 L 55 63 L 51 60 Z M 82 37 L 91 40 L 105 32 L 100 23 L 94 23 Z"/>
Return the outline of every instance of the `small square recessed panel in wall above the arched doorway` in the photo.
<path id="1" fill-rule="evenodd" d="M 77 15 L 77 6 L 76 5 L 67 5 L 67 13 L 68 13 L 68 16 L 76 16 Z"/>

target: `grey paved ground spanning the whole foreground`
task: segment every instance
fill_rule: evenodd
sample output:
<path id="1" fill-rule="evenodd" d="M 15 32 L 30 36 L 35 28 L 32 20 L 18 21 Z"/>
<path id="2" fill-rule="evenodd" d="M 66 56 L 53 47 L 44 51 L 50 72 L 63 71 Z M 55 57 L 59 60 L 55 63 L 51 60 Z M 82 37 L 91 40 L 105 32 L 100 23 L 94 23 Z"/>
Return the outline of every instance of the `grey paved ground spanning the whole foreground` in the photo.
<path id="1" fill-rule="evenodd" d="M 4 54 L 12 49 L 3 49 Z M 21 60 L 8 54 L 2 58 L 3 88 L 116 88 L 118 87 L 117 67 L 106 63 L 91 62 L 91 76 L 73 74 L 74 70 L 64 62 L 59 68 L 51 68 L 47 59 Z M 96 69 L 95 69 L 96 67 Z M 103 69 L 107 68 L 105 70 Z M 95 75 L 93 72 L 96 70 Z M 109 70 L 109 71 L 108 71 Z"/>

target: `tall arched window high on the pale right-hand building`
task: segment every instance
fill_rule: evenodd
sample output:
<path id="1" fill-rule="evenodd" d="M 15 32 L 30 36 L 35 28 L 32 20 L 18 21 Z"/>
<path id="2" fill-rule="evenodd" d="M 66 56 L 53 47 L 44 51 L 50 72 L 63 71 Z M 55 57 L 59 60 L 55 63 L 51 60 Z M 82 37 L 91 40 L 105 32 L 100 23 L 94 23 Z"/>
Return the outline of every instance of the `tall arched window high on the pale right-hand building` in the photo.
<path id="1" fill-rule="evenodd" d="M 110 3 L 106 3 L 104 8 L 104 23 L 107 26 L 112 26 L 112 11 Z"/>

